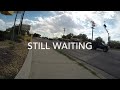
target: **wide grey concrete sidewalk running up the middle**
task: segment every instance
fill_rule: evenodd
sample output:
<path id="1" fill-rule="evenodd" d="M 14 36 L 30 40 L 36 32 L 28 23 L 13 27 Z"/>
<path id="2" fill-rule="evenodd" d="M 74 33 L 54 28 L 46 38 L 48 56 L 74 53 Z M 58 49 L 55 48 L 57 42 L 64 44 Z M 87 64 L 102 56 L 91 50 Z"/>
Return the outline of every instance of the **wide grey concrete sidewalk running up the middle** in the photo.
<path id="1" fill-rule="evenodd" d="M 29 79 L 99 79 L 84 67 L 53 50 L 32 50 Z"/>

